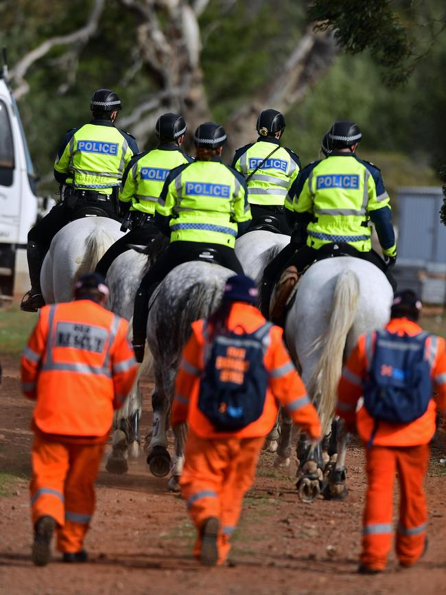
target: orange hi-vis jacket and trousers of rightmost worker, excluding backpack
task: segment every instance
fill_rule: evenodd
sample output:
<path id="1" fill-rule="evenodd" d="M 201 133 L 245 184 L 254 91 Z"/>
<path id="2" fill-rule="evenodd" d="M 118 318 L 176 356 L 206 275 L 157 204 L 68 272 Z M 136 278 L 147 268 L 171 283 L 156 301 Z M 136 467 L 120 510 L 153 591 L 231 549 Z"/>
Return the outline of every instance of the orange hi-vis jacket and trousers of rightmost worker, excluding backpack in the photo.
<path id="1" fill-rule="evenodd" d="M 421 327 L 408 318 L 393 318 L 386 326 L 390 333 L 414 336 Z M 426 341 L 425 358 L 430 363 L 436 395 L 426 412 L 410 423 L 387 423 L 368 414 L 364 406 L 357 412 L 363 382 L 368 375 L 375 349 L 375 333 L 359 338 L 342 371 L 336 413 L 367 445 L 368 489 L 364 509 L 361 561 L 367 568 L 383 570 L 392 541 L 392 498 L 395 472 L 401 491 L 396 550 L 401 565 L 414 564 L 423 554 L 427 524 L 427 504 L 423 491 L 429 442 L 435 432 L 436 406 L 446 413 L 445 340 L 434 335 Z M 373 434 L 375 432 L 375 434 Z M 369 447 L 368 443 L 373 438 Z"/>

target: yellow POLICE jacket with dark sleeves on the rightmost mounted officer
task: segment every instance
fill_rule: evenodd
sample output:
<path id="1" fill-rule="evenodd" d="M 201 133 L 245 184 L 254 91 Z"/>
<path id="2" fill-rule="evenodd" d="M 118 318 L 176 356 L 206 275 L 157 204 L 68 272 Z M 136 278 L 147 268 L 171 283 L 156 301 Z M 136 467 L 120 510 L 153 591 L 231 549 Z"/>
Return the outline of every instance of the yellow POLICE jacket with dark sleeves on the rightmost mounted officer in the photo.
<path id="1" fill-rule="evenodd" d="M 389 196 L 381 172 L 354 153 L 333 151 L 327 159 L 314 161 L 299 173 L 290 188 L 285 207 L 294 217 L 312 215 L 307 225 L 307 245 L 320 248 L 331 242 L 347 242 L 360 252 L 371 250 L 375 224 L 386 256 L 395 256 Z"/>

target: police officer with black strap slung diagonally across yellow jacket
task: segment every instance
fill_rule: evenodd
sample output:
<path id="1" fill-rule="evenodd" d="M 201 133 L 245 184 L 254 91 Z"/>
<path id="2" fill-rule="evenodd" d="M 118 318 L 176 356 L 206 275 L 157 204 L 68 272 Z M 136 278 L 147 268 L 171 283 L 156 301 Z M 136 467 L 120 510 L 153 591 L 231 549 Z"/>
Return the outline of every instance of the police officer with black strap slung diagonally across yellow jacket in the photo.
<path id="1" fill-rule="evenodd" d="M 283 205 L 301 161 L 291 149 L 281 147 L 285 118 L 280 112 L 263 110 L 256 130 L 259 138 L 237 149 L 232 167 L 246 179 L 253 224 L 262 215 L 273 215 L 279 220 L 281 233 L 290 234 Z"/>

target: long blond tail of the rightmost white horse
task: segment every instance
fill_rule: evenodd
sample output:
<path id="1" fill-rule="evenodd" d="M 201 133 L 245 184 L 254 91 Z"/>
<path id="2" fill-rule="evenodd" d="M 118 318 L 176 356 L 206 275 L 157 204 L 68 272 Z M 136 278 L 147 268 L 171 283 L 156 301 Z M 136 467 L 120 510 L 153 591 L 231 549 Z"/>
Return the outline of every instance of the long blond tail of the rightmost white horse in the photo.
<path id="1" fill-rule="evenodd" d="M 336 280 L 329 325 L 314 345 L 314 350 L 322 349 L 322 353 L 309 380 L 308 390 L 318 401 L 324 435 L 329 432 L 333 418 L 345 342 L 355 319 L 359 296 L 357 276 L 351 270 L 343 270 Z"/>

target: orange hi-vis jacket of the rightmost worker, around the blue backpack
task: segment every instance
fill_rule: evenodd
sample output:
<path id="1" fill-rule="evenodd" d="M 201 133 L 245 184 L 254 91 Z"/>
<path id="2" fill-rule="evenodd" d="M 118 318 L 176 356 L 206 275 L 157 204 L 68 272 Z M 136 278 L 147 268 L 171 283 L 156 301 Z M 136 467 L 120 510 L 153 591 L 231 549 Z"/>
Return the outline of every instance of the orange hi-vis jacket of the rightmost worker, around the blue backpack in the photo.
<path id="1" fill-rule="evenodd" d="M 408 318 L 392 318 L 386 326 L 390 333 L 414 336 L 423 331 Z M 356 421 L 357 432 L 364 442 L 371 439 L 375 419 L 364 406 L 357 412 L 357 401 L 362 396 L 363 383 L 370 369 L 375 350 L 375 332 L 360 336 L 355 349 L 350 354 L 342 371 L 338 386 L 336 414 L 344 418 L 349 428 Z M 446 348 L 445 340 L 430 335 L 426 340 L 425 358 L 430 363 L 431 377 L 436 395 L 430 400 L 426 412 L 410 423 L 388 423 L 379 421 L 373 445 L 376 446 L 416 446 L 427 444 L 435 432 L 436 406 L 446 414 Z M 355 413 L 356 412 L 356 413 Z"/>

